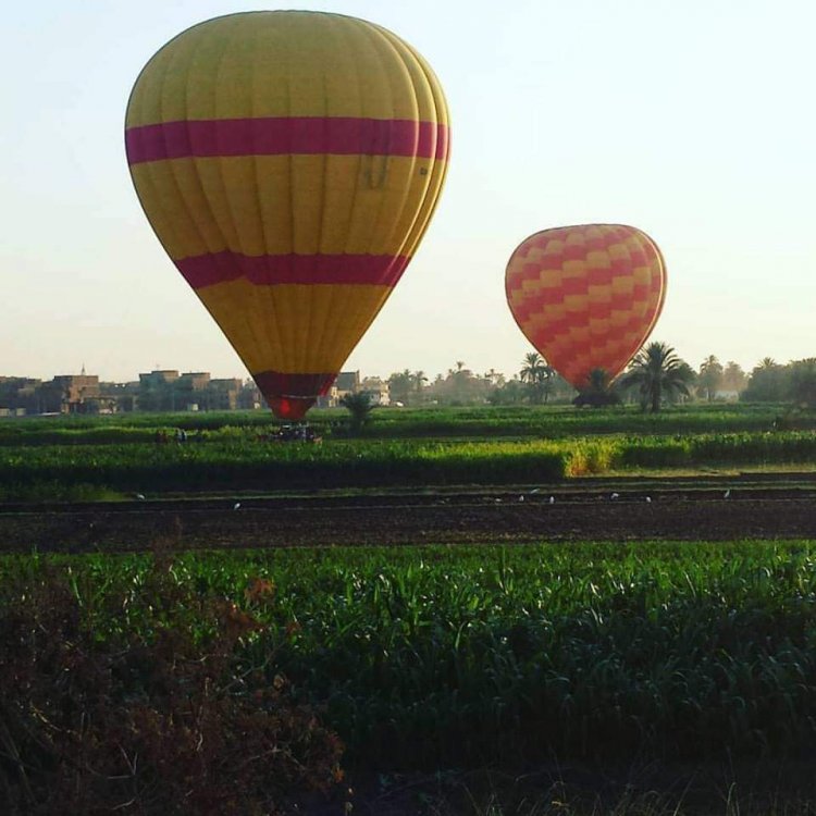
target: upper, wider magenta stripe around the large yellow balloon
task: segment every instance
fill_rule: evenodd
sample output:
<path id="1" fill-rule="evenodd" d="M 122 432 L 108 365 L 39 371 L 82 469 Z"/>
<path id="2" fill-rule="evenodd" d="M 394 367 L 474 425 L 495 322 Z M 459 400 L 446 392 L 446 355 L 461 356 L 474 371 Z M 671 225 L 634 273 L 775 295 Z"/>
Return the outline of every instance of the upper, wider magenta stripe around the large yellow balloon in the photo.
<path id="1" fill-rule="evenodd" d="M 409 119 L 265 116 L 185 120 L 131 127 L 127 161 L 334 153 L 446 159 L 448 128 Z"/>

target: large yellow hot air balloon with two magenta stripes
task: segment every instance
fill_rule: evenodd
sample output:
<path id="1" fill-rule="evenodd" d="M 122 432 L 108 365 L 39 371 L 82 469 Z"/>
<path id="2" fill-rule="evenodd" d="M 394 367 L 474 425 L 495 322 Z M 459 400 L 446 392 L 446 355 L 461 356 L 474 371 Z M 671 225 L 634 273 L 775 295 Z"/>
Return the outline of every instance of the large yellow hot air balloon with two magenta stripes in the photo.
<path id="1" fill-rule="evenodd" d="M 159 240 L 275 413 L 302 417 L 438 199 L 448 113 L 433 71 L 355 17 L 231 14 L 147 63 L 125 143 Z"/>

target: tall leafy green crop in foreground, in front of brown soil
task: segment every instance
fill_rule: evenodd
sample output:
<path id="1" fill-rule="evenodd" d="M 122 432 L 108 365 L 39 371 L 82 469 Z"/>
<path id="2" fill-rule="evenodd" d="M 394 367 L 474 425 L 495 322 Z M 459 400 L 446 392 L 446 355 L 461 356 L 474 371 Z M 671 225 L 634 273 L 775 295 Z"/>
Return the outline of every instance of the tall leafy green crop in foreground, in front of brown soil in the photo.
<path id="1" fill-rule="evenodd" d="M 100 638 L 150 631 L 153 615 L 195 629 L 189 611 L 134 602 L 149 561 L 7 557 L 0 581 L 62 570 Z M 814 542 L 185 554 L 171 574 L 260 622 L 242 670 L 285 675 L 369 765 L 756 755 L 816 738 Z"/>

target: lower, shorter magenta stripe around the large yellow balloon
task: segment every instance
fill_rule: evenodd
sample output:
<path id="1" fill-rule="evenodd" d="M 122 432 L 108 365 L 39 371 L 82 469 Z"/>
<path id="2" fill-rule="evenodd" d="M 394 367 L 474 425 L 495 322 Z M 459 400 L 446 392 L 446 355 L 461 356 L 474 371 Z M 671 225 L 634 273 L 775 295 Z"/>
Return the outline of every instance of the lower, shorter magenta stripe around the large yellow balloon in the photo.
<path id="1" fill-rule="evenodd" d="M 246 279 L 274 284 L 360 284 L 395 286 L 410 259 L 391 255 L 261 255 L 212 252 L 175 261 L 194 289 Z"/>

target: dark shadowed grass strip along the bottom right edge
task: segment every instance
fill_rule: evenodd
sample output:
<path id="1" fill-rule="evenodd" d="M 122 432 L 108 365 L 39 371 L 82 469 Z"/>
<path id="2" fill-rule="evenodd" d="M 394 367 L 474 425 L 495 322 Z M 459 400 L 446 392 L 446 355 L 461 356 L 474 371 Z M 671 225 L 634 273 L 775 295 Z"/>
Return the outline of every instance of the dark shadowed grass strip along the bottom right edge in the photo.
<path id="1" fill-rule="evenodd" d="M 379 816 L 812 816 L 808 765 L 631 765 L 576 768 L 548 763 L 519 774 L 496 768 L 382 775 L 356 796 Z"/>

